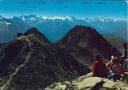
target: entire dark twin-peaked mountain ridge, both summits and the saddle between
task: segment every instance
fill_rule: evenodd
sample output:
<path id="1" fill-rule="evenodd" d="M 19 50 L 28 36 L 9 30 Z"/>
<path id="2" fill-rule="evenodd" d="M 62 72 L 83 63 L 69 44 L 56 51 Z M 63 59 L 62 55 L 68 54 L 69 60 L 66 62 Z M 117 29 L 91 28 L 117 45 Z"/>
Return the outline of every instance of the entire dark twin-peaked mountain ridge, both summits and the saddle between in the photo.
<path id="1" fill-rule="evenodd" d="M 110 48 L 90 27 L 76 26 L 56 44 L 30 28 L 0 47 L 0 90 L 43 90 L 74 80 L 89 72 L 96 54 L 109 57 Z"/>

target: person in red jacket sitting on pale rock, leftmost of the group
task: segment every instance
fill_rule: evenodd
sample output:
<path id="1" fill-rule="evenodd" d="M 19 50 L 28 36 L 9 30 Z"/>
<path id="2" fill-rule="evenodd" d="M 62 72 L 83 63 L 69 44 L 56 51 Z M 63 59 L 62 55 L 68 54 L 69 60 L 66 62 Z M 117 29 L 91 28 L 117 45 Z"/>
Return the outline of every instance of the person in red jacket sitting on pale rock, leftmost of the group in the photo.
<path id="1" fill-rule="evenodd" d="M 96 56 L 95 62 L 92 65 L 92 73 L 93 77 L 108 77 L 108 69 L 106 64 L 103 63 L 101 57 L 99 55 Z"/>

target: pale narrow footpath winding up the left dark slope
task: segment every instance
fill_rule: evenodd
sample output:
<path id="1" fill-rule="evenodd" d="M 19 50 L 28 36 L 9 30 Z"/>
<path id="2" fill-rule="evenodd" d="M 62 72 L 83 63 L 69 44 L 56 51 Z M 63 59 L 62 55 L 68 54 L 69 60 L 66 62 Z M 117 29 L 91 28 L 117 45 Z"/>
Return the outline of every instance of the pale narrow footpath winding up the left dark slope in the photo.
<path id="1" fill-rule="evenodd" d="M 22 39 L 22 38 L 18 38 L 18 39 Z M 29 48 L 31 48 L 31 44 L 32 44 L 32 43 L 30 42 L 30 40 L 28 39 L 28 37 L 27 37 L 27 38 L 25 37 L 25 39 L 26 39 L 26 41 L 28 42 Z M 14 72 L 12 75 L 10 75 L 9 80 L 6 82 L 5 85 L 3 85 L 3 86 L 0 88 L 0 90 L 5 90 L 5 89 L 6 89 L 6 86 L 9 85 L 9 83 L 11 82 L 13 76 L 16 75 L 16 74 L 18 73 L 18 71 L 19 71 L 23 66 L 25 66 L 25 65 L 28 63 L 28 60 L 30 59 L 31 54 L 32 54 L 32 52 L 30 51 L 30 52 L 28 53 L 28 55 L 26 56 L 25 62 L 24 62 L 22 65 L 20 65 L 19 67 L 17 67 L 17 68 L 15 69 L 15 72 Z"/>

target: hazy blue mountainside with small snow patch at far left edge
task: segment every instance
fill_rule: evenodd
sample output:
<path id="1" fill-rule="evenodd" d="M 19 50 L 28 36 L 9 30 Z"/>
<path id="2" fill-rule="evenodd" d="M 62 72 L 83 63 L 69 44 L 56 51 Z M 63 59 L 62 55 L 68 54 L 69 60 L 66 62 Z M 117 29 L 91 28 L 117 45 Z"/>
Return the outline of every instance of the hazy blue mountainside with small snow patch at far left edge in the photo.
<path id="1" fill-rule="evenodd" d="M 25 32 L 27 27 L 28 25 L 19 18 L 14 21 L 0 16 L 0 42 L 6 43 L 14 39 L 18 32 Z"/>

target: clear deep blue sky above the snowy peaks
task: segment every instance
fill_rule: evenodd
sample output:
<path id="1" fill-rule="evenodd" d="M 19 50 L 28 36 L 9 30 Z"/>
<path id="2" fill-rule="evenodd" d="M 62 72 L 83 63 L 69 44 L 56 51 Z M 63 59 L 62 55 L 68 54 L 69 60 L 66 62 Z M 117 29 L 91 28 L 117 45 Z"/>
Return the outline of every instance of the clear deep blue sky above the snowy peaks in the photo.
<path id="1" fill-rule="evenodd" d="M 0 15 L 22 14 L 120 19 L 127 16 L 127 3 L 125 0 L 0 0 Z"/>

